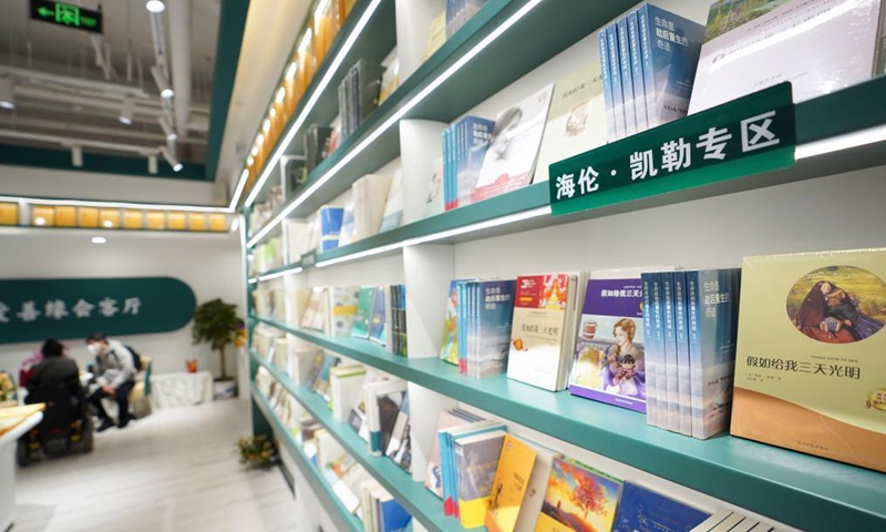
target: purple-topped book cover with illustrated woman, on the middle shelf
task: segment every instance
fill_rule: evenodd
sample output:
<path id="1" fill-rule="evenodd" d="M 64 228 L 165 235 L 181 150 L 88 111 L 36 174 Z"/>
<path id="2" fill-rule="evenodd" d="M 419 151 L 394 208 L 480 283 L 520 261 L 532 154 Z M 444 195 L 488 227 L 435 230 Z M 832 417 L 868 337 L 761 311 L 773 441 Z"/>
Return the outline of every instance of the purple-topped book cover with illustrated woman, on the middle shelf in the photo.
<path id="1" fill-rule="evenodd" d="M 642 282 L 594 277 L 586 286 L 569 392 L 646 412 Z"/>

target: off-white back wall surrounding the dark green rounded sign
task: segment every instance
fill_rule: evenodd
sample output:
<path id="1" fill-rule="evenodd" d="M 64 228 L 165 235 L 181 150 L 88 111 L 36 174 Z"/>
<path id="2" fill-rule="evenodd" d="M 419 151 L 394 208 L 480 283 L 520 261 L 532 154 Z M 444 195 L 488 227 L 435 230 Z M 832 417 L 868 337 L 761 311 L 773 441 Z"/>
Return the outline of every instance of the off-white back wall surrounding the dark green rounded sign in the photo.
<path id="1" fill-rule="evenodd" d="M 97 234 L 97 233 L 96 233 Z M 224 235 L 202 234 L 140 234 L 124 232 L 102 232 L 107 243 L 95 245 L 89 231 L 73 229 L 2 229 L 0 231 L 0 279 L 60 279 L 60 278 L 131 278 L 172 277 L 187 285 L 200 304 L 220 297 L 236 303 L 243 314 L 243 260 L 237 233 Z M 159 288 L 164 289 L 164 288 Z M 169 288 L 172 289 L 172 288 Z M 0 295 L 2 296 L 2 295 Z M 122 296 L 121 296 L 122 297 Z M 0 300 L 2 297 L 0 297 Z M 50 314 L 48 301 L 34 301 L 35 320 L 29 325 L 42 324 L 43 336 L 58 335 L 53 316 L 59 308 L 52 299 Z M 86 301 L 90 303 L 90 301 Z M 92 301 L 96 317 L 101 315 L 101 300 Z M 126 316 L 132 315 L 132 304 Z M 122 316 L 125 300 L 116 305 Z M 71 307 L 65 311 L 74 313 Z M 83 309 L 81 309 L 83 310 Z M 140 308 L 138 311 L 146 310 Z M 99 311 L 99 314 L 95 314 Z M 110 310 L 109 310 L 110 311 Z M 13 308 L 7 314 L 16 320 L 22 314 Z M 39 315 L 35 315 L 39 313 Z M 25 316 L 25 314 L 22 314 Z M 49 316 L 49 317 L 48 317 Z M 181 320 L 178 321 L 181 323 Z M 185 371 L 185 360 L 196 358 L 199 369 L 220 374 L 217 352 L 205 345 L 194 346 L 190 340 L 190 324 L 171 332 L 116 336 L 124 344 L 132 345 L 142 355 L 153 359 L 153 370 L 157 374 Z M 71 355 L 81 365 L 91 361 L 82 339 L 64 340 Z M 21 361 L 37 350 L 40 341 L 27 344 L 0 344 L 0 369 L 18 375 Z M 234 348 L 228 349 L 227 371 L 234 375 L 236 367 Z"/>

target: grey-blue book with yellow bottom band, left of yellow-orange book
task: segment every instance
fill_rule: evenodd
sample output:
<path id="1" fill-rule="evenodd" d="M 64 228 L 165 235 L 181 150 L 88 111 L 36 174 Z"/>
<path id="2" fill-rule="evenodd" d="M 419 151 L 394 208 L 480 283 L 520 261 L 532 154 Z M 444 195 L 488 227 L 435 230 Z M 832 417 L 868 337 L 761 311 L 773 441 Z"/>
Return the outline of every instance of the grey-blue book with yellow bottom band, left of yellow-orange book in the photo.
<path id="1" fill-rule="evenodd" d="M 459 470 L 459 522 L 465 529 L 482 526 L 490 508 L 490 493 L 506 432 L 455 439 L 455 463 Z"/>

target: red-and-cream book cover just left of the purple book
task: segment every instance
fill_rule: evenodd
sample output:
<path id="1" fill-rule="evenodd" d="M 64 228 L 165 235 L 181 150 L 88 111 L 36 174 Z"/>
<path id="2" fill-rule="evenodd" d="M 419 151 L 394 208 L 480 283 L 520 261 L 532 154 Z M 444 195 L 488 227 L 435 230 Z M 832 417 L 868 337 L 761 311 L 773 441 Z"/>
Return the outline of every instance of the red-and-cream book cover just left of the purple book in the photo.
<path id="1" fill-rule="evenodd" d="M 507 377 L 552 391 L 560 389 L 569 274 L 517 277 Z"/>

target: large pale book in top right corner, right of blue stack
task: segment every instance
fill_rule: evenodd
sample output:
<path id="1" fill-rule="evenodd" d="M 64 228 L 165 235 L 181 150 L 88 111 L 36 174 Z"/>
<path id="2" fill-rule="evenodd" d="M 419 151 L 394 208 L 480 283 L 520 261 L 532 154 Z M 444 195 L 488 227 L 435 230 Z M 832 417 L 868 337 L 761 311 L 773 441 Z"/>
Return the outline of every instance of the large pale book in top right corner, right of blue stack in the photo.
<path id="1" fill-rule="evenodd" d="M 690 113 L 785 81 L 799 103 L 874 74 L 879 0 L 748 3 L 711 4 Z"/>

